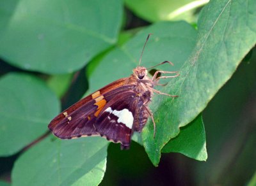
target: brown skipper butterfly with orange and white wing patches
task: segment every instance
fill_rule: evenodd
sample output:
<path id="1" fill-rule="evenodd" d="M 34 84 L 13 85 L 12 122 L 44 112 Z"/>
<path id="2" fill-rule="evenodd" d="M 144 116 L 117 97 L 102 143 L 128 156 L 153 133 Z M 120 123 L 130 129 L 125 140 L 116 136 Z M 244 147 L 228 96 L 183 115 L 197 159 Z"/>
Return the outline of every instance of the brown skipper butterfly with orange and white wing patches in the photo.
<path id="1" fill-rule="evenodd" d="M 150 34 L 145 45 L 149 36 Z M 172 62 L 164 61 L 156 66 L 164 63 L 173 65 Z M 141 132 L 148 117 L 151 117 L 155 136 L 156 123 L 152 111 L 148 108 L 154 92 L 171 97 L 177 96 L 160 92 L 154 89 L 154 86 L 162 85 L 159 84 L 161 78 L 174 78 L 179 76 L 179 73 L 156 71 L 150 78 L 147 71 L 150 68 L 138 66 L 133 69 L 131 76 L 116 80 L 84 97 L 56 116 L 49 124 L 49 129 L 61 139 L 102 136 L 114 143 L 120 143 L 121 149 L 129 149 L 134 131 Z M 175 75 L 157 76 L 159 73 Z"/>

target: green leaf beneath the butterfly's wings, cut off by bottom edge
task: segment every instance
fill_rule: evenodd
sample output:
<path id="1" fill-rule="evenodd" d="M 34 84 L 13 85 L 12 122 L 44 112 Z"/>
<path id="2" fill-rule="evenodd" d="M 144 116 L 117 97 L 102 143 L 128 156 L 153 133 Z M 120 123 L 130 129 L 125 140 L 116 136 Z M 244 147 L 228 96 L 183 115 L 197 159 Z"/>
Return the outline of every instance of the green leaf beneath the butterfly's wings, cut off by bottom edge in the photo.
<path id="1" fill-rule="evenodd" d="M 13 185 L 99 185 L 106 171 L 108 143 L 100 137 L 50 136 L 15 162 Z"/>

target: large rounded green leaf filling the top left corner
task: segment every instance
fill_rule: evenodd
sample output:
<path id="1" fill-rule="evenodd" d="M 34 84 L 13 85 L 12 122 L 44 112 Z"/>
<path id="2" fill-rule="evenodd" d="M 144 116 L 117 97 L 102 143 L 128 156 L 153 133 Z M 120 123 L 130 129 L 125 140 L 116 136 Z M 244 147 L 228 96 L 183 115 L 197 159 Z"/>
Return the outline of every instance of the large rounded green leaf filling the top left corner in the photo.
<path id="1" fill-rule="evenodd" d="M 0 56 L 52 74 L 76 71 L 116 43 L 123 10 L 119 0 L 4 0 L 0 7 Z"/>

